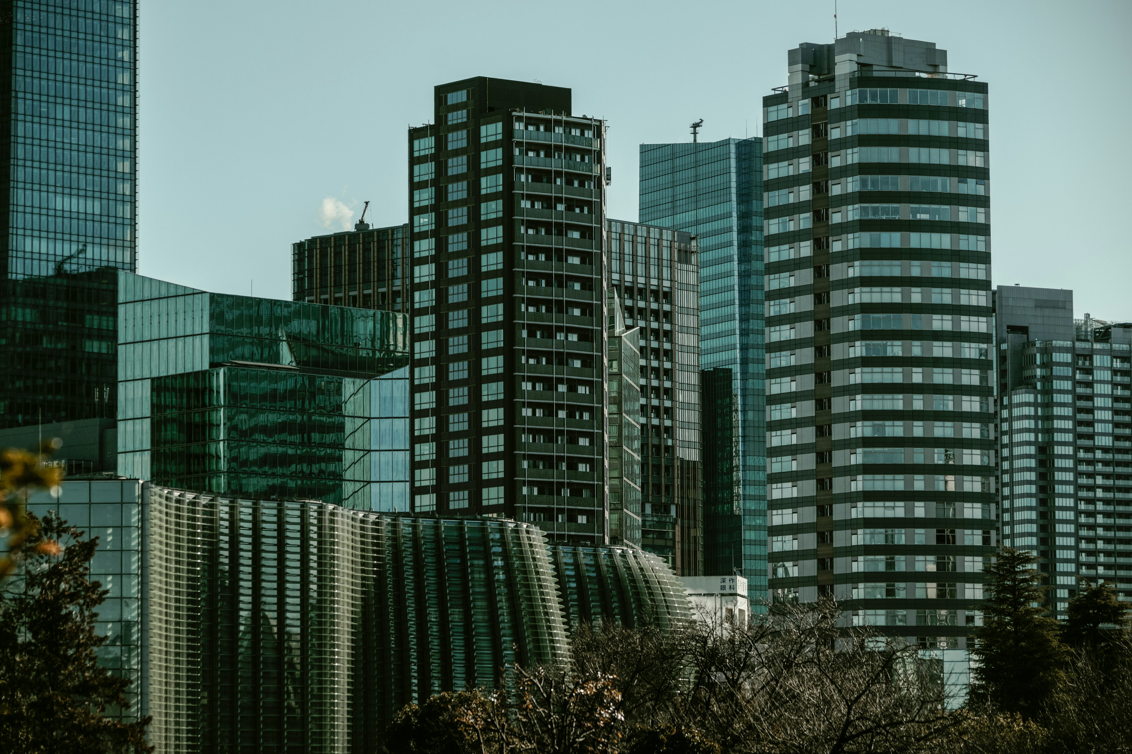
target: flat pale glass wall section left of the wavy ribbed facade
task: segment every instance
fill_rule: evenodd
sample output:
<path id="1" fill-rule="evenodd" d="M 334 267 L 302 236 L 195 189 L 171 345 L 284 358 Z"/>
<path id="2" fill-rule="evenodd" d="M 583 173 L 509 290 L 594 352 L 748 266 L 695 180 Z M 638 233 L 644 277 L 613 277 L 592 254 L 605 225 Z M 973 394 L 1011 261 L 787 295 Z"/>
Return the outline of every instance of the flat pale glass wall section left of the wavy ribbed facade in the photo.
<path id="1" fill-rule="evenodd" d="M 98 606 L 95 632 L 106 643 L 95 650 L 98 664 L 114 675 L 129 678 L 126 691 L 130 709 L 110 709 L 106 714 L 127 720 L 144 717 L 144 642 L 142 616 L 142 483 L 136 479 L 63 482 L 59 495 L 41 492 L 28 499 L 28 510 L 38 517 L 55 511 L 65 521 L 98 538 L 91 561 L 91 580 L 106 589 Z M 188 629 L 188 626 L 186 626 Z"/>

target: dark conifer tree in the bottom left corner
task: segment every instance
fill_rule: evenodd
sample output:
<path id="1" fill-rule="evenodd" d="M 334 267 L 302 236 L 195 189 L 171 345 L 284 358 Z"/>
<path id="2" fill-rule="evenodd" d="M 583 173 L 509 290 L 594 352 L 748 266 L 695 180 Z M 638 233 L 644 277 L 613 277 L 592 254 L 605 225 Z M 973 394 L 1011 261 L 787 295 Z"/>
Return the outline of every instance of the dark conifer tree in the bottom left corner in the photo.
<path id="1" fill-rule="evenodd" d="M 106 597 L 88 579 L 97 538 L 32 514 L 17 575 L 0 591 L 0 742 L 12 753 L 152 752 L 146 718 L 120 722 L 130 681 L 100 667 L 95 612 Z"/>

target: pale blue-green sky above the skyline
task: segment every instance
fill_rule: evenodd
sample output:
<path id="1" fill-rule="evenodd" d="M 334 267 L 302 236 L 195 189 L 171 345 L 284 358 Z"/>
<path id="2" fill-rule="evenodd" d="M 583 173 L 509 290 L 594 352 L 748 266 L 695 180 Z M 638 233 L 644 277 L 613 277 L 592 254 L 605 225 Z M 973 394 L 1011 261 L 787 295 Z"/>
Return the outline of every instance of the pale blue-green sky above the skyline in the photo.
<path id="1" fill-rule="evenodd" d="M 702 140 L 760 133 L 787 50 L 833 38 L 833 0 L 140 5 L 140 271 L 278 298 L 292 242 L 352 227 L 367 199 L 368 219 L 405 222 L 405 129 L 437 84 L 572 87 L 575 113 L 610 125 L 609 215 L 635 220 L 638 144 L 688 140 L 700 118 Z M 839 16 L 989 83 L 994 283 L 1132 319 L 1132 2 L 840 0 Z"/>

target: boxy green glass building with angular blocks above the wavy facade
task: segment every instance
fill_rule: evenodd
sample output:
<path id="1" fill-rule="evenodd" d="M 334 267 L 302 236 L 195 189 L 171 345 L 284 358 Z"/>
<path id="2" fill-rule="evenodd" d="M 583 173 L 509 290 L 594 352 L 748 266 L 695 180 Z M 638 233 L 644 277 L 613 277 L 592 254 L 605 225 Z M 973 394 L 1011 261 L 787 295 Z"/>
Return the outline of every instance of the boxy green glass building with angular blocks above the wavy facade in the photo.
<path id="1" fill-rule="evenodd" d="M 406 315 L 119 272 L 119 475 L 409 509 Z"/>

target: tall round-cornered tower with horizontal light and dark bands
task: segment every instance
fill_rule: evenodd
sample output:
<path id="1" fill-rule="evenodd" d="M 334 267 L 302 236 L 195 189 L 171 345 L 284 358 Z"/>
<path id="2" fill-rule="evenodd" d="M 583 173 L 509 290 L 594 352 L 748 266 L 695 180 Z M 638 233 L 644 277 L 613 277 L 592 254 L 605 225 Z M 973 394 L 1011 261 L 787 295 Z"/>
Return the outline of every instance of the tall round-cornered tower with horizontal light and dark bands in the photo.
<path id="1" fill-rule="evenodd" d="M 777 597 L 963 650 L 997 545 L 988 103 L 946 64 L 854 32 L 763 98 L 767 489 Z"/>

